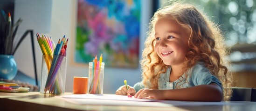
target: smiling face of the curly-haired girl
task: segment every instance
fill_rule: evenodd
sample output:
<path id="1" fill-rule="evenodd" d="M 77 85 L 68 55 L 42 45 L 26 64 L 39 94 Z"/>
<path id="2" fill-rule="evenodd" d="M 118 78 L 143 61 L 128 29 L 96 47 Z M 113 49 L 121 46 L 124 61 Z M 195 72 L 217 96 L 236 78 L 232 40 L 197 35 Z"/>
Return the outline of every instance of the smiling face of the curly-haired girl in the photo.
<path id="1" fill-rule="evenodd" d="M 162 18 L 155 24 L 155 51 L 166 65 L 182 65 L 188 52 L 188 34 L 174 19 Z"/>

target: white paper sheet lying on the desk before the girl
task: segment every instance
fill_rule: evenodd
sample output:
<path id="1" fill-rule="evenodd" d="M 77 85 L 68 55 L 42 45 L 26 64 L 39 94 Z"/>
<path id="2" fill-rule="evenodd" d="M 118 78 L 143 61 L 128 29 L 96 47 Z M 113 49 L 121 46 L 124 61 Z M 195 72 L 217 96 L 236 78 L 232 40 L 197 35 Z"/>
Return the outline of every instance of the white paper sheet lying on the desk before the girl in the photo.
<path id="1" fill-rule="evenodd" d="M 124 105 L 124 106 L 151 106 L 151 107 L 170 107 L 170 106 L 215 106 L 215 105 L 243 105 L 242 103 L 230 102 L 189 102 L 155 99 L 136 99 L 127 96 L 113 94 L 74 94 L 57 96 L 68 102 L 78 105 Z"/>

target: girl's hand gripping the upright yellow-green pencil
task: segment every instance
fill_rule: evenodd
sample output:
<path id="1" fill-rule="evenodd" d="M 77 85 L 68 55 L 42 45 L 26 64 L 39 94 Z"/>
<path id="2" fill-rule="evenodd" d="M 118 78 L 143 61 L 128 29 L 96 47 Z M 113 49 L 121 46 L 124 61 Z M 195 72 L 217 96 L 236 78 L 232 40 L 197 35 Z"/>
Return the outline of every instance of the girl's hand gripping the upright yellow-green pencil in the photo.
<path id="1" fill-rule="evenodd" d="M 127 93 L 130 93 L 131 96 L 134 96 L 136 94 L 136 91 L 133 87 L 128 86 L 128 90 L 126 89 L 125 85 L 124 86 L 120 86 L 118 88 L 118 90 L 116 91 L 116 95 L 127 95 Z"/>

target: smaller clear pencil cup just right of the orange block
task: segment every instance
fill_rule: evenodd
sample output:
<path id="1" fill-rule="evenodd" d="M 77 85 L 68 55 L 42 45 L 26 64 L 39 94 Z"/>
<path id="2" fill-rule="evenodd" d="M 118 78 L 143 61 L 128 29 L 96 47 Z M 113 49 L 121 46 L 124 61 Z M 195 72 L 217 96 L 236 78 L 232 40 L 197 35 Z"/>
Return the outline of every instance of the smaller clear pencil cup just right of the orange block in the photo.
<path id="1" fill-rule="evenodd" d="M 92 62 L 89 62 L 89 93 L 103 94 L 104 83 L 104 62 L 101 63 L 100 68 L 93 68 Z"/>

